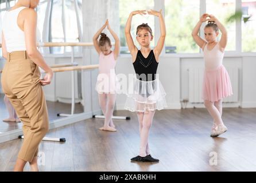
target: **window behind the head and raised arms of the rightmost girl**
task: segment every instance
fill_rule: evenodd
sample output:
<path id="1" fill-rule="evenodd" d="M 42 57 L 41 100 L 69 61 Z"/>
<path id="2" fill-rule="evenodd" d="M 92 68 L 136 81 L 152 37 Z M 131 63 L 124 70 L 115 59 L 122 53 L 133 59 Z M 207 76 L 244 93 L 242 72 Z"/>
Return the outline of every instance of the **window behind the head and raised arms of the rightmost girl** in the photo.
<path id="1" fill-rule="evenodd" d="M 226 51 L 236 50 L 236 27 L 235 22 L 226 23 L 227 18 L 235 13 L 235 0 L 206 0 L 206 13 L 215 15 L 227 29 L 228 43 Z M 221 33 L 219 34 L 219 38 Z"/>

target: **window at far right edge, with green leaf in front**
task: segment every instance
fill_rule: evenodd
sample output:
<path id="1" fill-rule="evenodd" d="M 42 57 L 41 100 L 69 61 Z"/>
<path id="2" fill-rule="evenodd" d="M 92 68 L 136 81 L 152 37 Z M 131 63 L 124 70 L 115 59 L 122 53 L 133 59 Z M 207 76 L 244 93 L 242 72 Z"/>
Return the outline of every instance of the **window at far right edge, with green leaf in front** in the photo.
<path id="1" fill-rule="evenodd" d="M 243 0 L 242 12 L 248 22 L 242 21 L 242 51 L 256 52 L 256 1 Z"/>

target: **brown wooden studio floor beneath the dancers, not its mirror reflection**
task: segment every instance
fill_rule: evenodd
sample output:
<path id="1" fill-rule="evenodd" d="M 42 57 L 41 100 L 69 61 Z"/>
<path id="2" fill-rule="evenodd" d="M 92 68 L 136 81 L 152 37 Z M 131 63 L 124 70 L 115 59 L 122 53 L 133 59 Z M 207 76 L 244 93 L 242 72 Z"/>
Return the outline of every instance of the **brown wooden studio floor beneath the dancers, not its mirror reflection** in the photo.
<path id="1" fill-rule="evenodd" d="M 127 111 L 130 121 L 114 120 L 118 132 L 98 130 L 102 119 L 89 119 L 51 130 L 47 137 L 65 137 L 66 142 L 40 145 L 45 155 L 41 171 L 255 171 L 256 109 L 224 109 L 228 132 L 210 137 L 211 117 L 205 109 L 161 110 L 156 112 L 150 131 L 152 156 L 160 162 L 133 163 L 138 155 L 137 116 Z M 0 144 L 0 171 L 11 171 L 21 140 Z M 210 165 L 210 153 L 218 165 Z M 29 166 L 26 166 L 26 171 Z"/>

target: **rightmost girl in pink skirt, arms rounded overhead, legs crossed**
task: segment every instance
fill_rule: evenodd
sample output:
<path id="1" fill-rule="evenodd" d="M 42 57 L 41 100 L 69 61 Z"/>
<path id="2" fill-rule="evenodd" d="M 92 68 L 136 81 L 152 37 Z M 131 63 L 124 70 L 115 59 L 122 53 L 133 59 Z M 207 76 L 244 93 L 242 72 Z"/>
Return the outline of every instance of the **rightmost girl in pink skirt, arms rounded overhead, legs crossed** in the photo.
<path id="1" fill-rule="evenodd" d="M 206 41 L 198 35 L 201 24 L 205 21 L 208 21 L 204 27 Z M 217 41 L 219 30 L 222 37 Z M 222 121 L 222 100 L 233 94 L 230 77 L 222 64 L 227 45 L 227 30 L 214 15 L 203 14 L 193 29 L 192 36 L 204 52 L 203 100 L 205 108 L 214 119 L 211 137 L 218 137 L 227 131 Z"/>

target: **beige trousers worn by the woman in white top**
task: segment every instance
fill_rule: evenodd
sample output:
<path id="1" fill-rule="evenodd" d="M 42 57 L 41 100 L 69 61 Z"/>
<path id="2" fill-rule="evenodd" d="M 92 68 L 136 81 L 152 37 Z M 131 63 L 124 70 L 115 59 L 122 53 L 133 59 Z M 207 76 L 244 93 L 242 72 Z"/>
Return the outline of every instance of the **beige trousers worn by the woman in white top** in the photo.
<path id="1" fill-rule="evenodd" d="M 26 51 L 13 51 L 3 67 L 1 83 L 3 92 L 23 123 L 24 142 L 18 158 L 31 162 L 37 156 L 38 145 L 49 127 L 40 70 Z"/>

